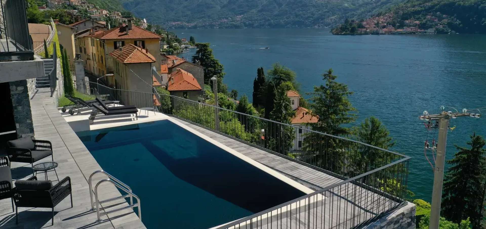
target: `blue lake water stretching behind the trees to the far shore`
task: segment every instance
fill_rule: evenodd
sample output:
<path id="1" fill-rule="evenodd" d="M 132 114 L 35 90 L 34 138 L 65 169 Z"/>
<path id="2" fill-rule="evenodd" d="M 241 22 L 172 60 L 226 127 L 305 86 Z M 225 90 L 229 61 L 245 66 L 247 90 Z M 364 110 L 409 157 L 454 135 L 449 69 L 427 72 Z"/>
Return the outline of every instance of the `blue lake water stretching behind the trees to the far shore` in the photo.
<path id="1" fill-rule="evenodd" d="M 250 100 L 260 66 L 267 70 L 279 62 L 294 70 L 301 94 L 322 84 L 321 74 L 332 68 L 337 81 L 354 92 L 350 100 L 359 112 L 356 125 L 366 117 L 378 117 L 396 142 L 392 150 L 413 157 L 408 188 L 415 198 L 427 201 L 434 177 L 424 156 L 427 129 L 418 115 L 424 110 L 434 114 L 441 105 L 459 111 L 486 106 L 486 35 L 335 36 L 327 29 L 172 32 L 210 42 L 225 66 L 224 82 Z M 264 47 L 270 49 L 260 49 Z M 190 59 L 193 52 L 182 56 Z M 448 135 L 447 159 L 457 151 L 454 144 L 466 146 L 473 132 L 486 135 L 486 116 L 453 119 L 451 126 L 456 129 Z"/>

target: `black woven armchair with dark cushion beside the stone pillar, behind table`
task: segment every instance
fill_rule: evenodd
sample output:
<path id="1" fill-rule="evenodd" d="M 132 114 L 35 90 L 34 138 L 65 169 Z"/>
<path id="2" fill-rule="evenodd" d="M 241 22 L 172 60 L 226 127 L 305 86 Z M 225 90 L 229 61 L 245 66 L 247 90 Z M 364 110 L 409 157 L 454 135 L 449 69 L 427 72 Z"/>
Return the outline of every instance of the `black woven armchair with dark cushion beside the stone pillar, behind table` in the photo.
<path id="1" fill-rule="evenodd" d="M 10 162 L 22 162 L 34 165 L 35 162 L 49 156 L 54 161 L 52 143 L 50 141 L 35 140 L 28 137 L 8 141 L 7 153 Z M 32 171 L 32 175 L 34 175 L 34 170 Z"/>

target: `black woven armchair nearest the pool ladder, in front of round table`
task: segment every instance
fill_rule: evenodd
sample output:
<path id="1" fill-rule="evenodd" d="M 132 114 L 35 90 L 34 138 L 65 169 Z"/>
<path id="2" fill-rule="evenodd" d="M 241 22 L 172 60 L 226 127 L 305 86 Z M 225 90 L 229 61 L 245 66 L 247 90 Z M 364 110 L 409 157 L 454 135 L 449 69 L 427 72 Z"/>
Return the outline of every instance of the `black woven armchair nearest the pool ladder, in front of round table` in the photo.
<path id="1" fill-rule="evenodd" d="M 66 177 L 54 186 L 52 186 L 50 180 L 36 180 L 37 178 L 33 176 L 28 180 L 17 180 L 15 182 L 16 187 L 12 191 L 15 201 L 16 222 L 18 223 L 18 207 L 52 208 L 51 225 L 54 225 L 54 207 L 68 195 L 71 196 L 72 208 L 71 179 Z"/>

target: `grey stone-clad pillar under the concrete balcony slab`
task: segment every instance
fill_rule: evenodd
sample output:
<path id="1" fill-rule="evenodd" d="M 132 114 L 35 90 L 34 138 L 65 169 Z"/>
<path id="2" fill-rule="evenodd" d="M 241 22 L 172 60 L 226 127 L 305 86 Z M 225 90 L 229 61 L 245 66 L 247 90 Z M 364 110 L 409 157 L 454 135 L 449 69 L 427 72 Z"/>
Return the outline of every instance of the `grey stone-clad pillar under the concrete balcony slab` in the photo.
<path id="1" fill-rule="evenodd" d="M 17 137 L 34 136 L 29 88 L 26 80 L 9 82 Z"/>

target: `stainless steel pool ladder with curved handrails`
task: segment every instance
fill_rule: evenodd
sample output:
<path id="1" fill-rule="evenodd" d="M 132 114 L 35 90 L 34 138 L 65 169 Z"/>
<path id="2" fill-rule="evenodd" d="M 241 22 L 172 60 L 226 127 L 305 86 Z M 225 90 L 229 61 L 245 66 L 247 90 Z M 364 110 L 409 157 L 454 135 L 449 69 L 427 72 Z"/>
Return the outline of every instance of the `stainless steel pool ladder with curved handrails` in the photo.
<path id="1" fill-rule="evenodd" d="M 93 185 L 92 185 L 91 180 L 93 178 L 93 175 L 95 175 L 97 173 L 103 173 L 108 178 L 100 180 L 100 181 L 98 181 L 98 183 L 96 183 L 96 185 L 94 187 L 94 202 L 93 202 L 93 189 L 92 189 Z M 117 188 L 123 190 L 127 194 L 122 195 L 122 196 L 112 197 L 112 198 L 100 201 L 98 199 L 98 186 L 100 186 L 100 184 L 102 184 L 104 182 L 112 183 Z M 96 222 L 102 222 L 103 220 L 101 219 L 101 216 L 103 216 L 103 215 L 107 215 L 109 213 L 115 213 L 115 212 L 125 210 L 125 209 L 129 209 L 129 208 L 135 208 L 135 207 L 138 207 L 139 218 L 140 218 L 140 220 L 142 219 L 142 214 L 141 214 L 141 210 L 140 210 L 140 198 L 139 198 L 139 196 L 132 193 L 132 188 L 130 188 L 130 186 L 126 185 L 125 183 L 121 182 L 121 180 L 118 180 L 117 178 L 111 176 L 109 173 L 107 173 L 103 170 L 94 171 L 89 176 L 88 183 L 89 183 L 89 199 L 90 199 L 89 201 L 91 202 L 91 211 L 96 211 L 96 215 L 98 216 L 98 220 Z M 121 207 L 121 208 L 117 208 L 117 209 L 113 209 L 113 210 L 103 212 L 103 213 L 100 212 L 100 204 L 110 202 L 110 201 L 114 201 L 114 200 L 117 200 L 117 199 L 122 199 L 122 198 L 125 198 L 125 197 L 130 197 L 130 205 L 125 206 L 125 207 Z M 133 203 L 133 197 L 135 197 L 137 199 L 137 203 L 135 203 L 135 204 Z M 96 205 L 96 208 L 95 208 L 95 205 Z"/>

